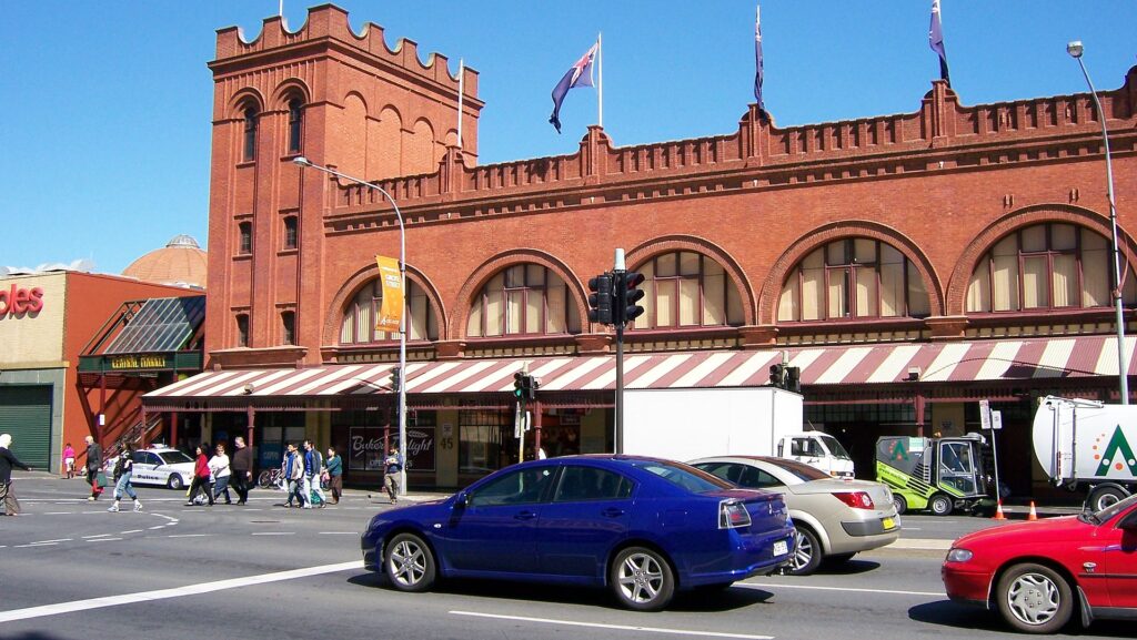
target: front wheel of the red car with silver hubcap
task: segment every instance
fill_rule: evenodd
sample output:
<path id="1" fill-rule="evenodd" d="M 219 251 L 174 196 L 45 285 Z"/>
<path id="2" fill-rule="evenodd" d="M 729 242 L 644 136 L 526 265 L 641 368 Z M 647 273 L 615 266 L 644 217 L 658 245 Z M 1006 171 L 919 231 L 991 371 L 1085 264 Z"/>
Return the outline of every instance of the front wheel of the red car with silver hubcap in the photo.
<path id="1" fill-rule="evenodd" d="M 1054 633 L 1070 622 L 1073 592 L 1051 567 L 1024 563 L 1003 574 L 995 589 L 998 610 L 1011 626 L 1027 633 Z"/>

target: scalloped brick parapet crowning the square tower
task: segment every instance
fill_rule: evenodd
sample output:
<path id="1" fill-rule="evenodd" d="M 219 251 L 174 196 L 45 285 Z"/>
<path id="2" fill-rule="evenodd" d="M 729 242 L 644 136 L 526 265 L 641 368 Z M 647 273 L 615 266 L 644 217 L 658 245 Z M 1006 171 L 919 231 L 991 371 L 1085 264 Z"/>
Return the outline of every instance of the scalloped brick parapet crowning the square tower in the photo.
<path id="1" fill-rule="evenodd" d="M 398 67 L 422 80 L 458 90 L 458 77 L 449 70 L 449 59 L 431 52 L 423 61 L 418 56 L 418 44 L 406 38 L 399 39 L 393 48 L 387 45 L 383 27 L 365 23 L 357 34 L 351 31 L 348 13 L 334 5 L 321 5 L 308 9 L 308 18 L 297 31 L 289 31 L 281 16 L 265 18 L 260 33 L 247 40 L 240 27 L 217 30 L 215 69 L 227 67 L 238 60 L 257 58 L 309 43 L 334 43 L 364 53 L 385 66 Z M 478 72 L 466 67 L 464 86 L 467 99 L 478 98 Z"/>

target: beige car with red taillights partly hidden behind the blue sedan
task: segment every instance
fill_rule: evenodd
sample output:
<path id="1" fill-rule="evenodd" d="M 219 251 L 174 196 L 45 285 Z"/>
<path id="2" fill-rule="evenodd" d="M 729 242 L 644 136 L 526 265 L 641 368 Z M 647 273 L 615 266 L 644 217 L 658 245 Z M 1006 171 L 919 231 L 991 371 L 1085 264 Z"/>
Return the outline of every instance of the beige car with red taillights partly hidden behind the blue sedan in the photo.
<path id="1" fill-rule="evenodd" d="M 723 456 L 689 464 L 738 487 L 783 496 L 797 529 L 797 550 L 786 567 L 792 575 L 811 574 L 822 560 L 846 562 L 901 535 L 891 491 L 879 482 L 833 479 L 786 458 Z"/>

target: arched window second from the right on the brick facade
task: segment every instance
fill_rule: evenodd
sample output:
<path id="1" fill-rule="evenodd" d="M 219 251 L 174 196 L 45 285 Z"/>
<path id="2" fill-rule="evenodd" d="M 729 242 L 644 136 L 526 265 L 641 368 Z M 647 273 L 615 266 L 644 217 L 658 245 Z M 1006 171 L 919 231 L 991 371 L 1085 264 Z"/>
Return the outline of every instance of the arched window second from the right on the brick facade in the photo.
<path id="1" fill-rule="evenodd" d="M 871 238 L 835 240 L 792 268 L 778 299 L 778 321 L 927 317 L 920 272 L 895 247 Z"/>

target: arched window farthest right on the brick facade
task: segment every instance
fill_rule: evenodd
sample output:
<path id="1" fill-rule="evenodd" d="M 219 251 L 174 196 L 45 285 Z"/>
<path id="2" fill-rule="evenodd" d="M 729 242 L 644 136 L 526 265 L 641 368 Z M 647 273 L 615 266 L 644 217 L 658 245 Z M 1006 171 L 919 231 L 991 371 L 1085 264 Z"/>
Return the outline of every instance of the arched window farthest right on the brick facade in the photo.
<path id="1" fill-rule="evenodd" d="M 1112 265 L 1110 241 L 1088 228 L 1061 223 L 1020 228 L 980 258 L 968 283 L 966 309 L 1107 307 L 1113 302 Z M 1132 305 L 1137 283 L 1131 274 L 1124 282 L 1122 300 Z"/>

